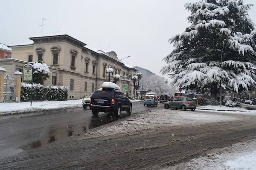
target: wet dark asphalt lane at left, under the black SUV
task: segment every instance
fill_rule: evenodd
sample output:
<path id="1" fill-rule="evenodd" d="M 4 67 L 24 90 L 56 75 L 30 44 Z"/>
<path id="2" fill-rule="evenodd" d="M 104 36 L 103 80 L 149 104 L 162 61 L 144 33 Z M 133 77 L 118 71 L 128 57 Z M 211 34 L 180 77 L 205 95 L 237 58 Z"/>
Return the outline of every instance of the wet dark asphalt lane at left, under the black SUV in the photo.
<path id="1" fill-rule="evenodd" d="M 163 107 L 163 104 L 159 104 L 158 107 Z M 98 116 L 93 116 L 89 108 L 0 116 L 0 159 L 19 153 L 25 147 L 26 149 L 38 148 L 155 108 L 143 106 L 143 102 L 139 102 L 133 105 L 131 114 L 123 111 L 119 117 L 103 112 L 100 112 Z"/>

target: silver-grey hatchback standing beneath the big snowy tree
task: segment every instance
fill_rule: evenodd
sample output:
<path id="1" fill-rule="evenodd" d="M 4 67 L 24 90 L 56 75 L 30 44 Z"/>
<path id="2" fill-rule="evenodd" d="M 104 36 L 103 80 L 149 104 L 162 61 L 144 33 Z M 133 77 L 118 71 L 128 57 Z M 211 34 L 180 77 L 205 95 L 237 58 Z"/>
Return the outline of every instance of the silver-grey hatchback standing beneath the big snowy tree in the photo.
<path id="1" fill-rule="evenodd" d="M 171 101 L 166 102 L 164 108 L 175 108 L 176 110 L 181 109 L 183 111 L 186 111 L 186 109 L 191 109 L 191 111 L 195 111 L 196 103 L 192 98 L 181 96 L 175 97 Z"/>

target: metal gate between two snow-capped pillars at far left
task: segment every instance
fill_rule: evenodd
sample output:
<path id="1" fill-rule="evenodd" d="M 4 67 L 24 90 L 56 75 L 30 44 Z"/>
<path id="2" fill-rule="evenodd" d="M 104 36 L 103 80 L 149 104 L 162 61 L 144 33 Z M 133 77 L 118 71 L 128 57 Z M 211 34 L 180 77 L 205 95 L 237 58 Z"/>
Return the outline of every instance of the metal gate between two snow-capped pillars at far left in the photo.
<path id="1" fill-rule="evenodd" d="M 3 97 L 5 102 L 15 102 L 15 79 L 9 75 L 4 77 Z"/>

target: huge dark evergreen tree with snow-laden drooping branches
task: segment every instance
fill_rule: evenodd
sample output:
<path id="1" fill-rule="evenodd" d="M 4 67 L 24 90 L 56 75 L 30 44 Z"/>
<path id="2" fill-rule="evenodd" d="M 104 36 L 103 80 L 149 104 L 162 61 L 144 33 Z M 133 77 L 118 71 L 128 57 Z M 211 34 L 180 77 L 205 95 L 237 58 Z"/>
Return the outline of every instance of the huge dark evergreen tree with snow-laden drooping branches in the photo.
<path id="1" fill-rule="evenodd" d="M 161 70 L 175 86 L 210 90 L 247 91 L 256 85 L 256 30 L 248 15 L 253 6 L 243 0 L 200 0 L 186 3 L 191 24 L 172 37 L 174 50 Z M 224 48 L 223 48 L 224 44 Z M 221 64 L 221 51 L 223 58 Z"/>

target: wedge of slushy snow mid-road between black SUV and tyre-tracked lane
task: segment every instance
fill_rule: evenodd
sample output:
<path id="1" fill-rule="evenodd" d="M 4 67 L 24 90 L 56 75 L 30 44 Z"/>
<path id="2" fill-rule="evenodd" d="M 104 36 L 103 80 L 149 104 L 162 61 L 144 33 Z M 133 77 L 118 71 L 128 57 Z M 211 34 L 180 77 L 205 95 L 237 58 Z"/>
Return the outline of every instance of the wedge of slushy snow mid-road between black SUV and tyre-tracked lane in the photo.
<path id="1" fill-rule="evenodd" d="M 118 122 L 115 125 L 104 127 L 102 129 L 85 133 L 86 138 L 95 138 L 99 136 L 110 136 L 114 134 L 131 134 L 140 131 L 157 129 L 173 126 L 194 126 L 212 122 L 227 122 L 237 120 L 233 116 L 224 116 L 218 114 L 200 113 L 197 111 L 176 111 L 169 109 L 153 109 L 130 116 L 128 119 Z"/>

